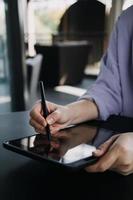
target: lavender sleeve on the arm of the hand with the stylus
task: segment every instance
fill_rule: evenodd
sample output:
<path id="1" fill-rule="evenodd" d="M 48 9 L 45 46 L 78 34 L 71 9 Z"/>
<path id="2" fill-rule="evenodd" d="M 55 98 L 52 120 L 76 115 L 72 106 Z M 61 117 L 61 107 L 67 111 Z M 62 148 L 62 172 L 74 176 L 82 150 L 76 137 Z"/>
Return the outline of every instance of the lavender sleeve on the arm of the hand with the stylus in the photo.
<path id="1" fill-rule="evenodd" d="M 101 71 L 93 86 L 79 99 L 93 99 L 99 109 L 99 118 L 122 112 L 121 82 L 118 63 L 119 22 L 112 32 L 109 47 L 101 61 Z"/>

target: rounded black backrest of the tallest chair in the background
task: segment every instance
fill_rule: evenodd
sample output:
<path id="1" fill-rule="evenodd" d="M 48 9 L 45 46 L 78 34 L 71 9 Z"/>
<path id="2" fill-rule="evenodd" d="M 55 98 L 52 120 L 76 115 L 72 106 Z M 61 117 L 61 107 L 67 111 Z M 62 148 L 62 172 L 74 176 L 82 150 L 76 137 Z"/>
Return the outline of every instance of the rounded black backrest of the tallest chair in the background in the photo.
<path id="1" fill-rule="evenodd" d="M 96 0 L 80 0 L 63 14 L 59 33 L 84 37 L 90 32 L 104 32 L 105 5 Z M 73 36 L 74 36 L 73 35 Z M 78 39 L 78 38 L 77 38 Z M 79 38 L 80 39 L 80 38 Z"/>

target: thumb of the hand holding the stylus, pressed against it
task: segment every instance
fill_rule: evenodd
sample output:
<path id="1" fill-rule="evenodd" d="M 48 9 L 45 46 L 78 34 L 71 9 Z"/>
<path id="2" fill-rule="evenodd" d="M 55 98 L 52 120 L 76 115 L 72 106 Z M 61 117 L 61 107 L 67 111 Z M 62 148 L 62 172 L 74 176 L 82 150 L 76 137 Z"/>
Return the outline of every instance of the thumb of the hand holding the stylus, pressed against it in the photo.
<path id="1" fill-rule="evenodd" d="M 54 112 L 48 115 L 46 121 L 49 125 L 52 125 L 55 122 L 58 122 L 60 118 L 61 118 L 61 112 L 59 110 L 55 110 Z"/>

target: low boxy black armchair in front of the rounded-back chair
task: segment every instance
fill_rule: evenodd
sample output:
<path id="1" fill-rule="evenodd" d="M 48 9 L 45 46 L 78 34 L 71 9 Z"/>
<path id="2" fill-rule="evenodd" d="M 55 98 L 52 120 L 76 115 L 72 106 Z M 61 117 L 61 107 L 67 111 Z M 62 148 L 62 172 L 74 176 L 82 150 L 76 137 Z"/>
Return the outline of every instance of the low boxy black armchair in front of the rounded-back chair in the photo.
<path id="1" fill-rule="evenodd" d="M 37 53 L 43 54 L 40 79 L 45 87 L 76 85 L 82 81 L 91 44 L 88 41 L 58 42 L 55 45 L 35 45 Z"/>

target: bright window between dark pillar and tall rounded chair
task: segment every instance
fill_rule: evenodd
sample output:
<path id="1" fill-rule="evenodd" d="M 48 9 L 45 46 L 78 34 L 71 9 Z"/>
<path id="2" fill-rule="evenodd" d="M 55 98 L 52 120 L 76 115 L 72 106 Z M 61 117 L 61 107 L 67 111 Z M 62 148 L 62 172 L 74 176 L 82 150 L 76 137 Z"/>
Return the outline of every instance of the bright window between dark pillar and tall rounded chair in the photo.
<path id="1" fill-rule="evenodd" d="M 31 0 L 28 5 L 28 43 L 30 54 L 37 43 L 52 42 L 57 33 L 60 18 L 65 10 L 76 0 Z"/>

